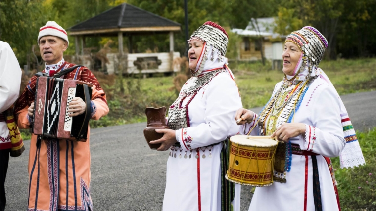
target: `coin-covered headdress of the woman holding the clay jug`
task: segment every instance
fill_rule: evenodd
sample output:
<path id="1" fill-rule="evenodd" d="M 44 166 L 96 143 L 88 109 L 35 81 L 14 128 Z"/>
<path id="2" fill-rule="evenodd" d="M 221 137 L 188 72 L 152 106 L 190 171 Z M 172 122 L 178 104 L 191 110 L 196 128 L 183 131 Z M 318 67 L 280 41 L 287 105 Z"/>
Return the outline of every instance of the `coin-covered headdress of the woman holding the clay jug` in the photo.
<path id="1" fill-rule="evenodd" d="M 211 62 L 227 63 L 225 57 L 227 51 L 227 44 L 229 43 L 229 36 L 225 29 L 220 25 L 206 21 L 190 36 L 191 40 L 198 40 L 204 44 L 202 58 L 200 58 L 197 64 L 197 69 L 192 70 L 192 75 L 199 75 L 205 68 L 206 61 L 210 59 Z M 216 59 L 216 61 L 215 61 Z M 208 66 L 208 65 L 206 65 Z M 213 65 L 210 65 L 213 66 Z"/>

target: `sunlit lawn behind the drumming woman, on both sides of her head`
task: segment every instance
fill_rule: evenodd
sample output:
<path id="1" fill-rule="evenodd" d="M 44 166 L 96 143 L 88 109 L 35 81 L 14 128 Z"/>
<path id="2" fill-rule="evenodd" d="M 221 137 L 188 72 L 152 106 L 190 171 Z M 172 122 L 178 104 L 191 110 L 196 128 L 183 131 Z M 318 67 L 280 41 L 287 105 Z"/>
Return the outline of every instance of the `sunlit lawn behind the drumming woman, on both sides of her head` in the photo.
<path id="1" fill-rule="evenodd" d="M 264 106 L 274 86 L 283 78 L 282 71 L 270 70 L 271 64 L 240 63 L 233 67 L 243 107 Z M 231 67 L 231 66 L 230 66 Z M 376 59 L 322 61 L 320 68 L 328 75 L 340 95 L 376 90 Z"/>

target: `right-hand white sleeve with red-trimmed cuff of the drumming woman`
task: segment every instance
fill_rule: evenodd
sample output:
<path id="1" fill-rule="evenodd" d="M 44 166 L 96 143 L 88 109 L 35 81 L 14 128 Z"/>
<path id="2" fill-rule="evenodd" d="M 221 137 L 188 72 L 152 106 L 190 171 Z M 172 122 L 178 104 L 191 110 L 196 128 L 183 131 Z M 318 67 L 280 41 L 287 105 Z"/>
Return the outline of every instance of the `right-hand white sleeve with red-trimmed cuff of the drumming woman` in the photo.
<path id="1" fill-rule="evenodd" d="M 305 137 L 301 138 L 300 148 L 327 157 L 339 156 L 346 144 L 341 124 L 340 101 L 329 86 L 324 86 L 316 96 L 311 112 L 313 125 L 306 124 Z"/>

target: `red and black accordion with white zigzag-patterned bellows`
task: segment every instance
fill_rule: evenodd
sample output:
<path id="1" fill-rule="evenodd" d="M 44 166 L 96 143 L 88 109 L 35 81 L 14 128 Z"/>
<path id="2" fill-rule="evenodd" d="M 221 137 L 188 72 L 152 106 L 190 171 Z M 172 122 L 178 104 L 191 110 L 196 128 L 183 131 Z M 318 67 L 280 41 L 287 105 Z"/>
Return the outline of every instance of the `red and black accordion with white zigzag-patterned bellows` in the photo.
<path id="1" fill-rule="evenodd" d="M 39 77 L 34 101 L 32 132 L 43 138 L 86 141 L 91 118 L 92 84 L 71 79 Z M 74 97 L 85 101 L 86 111 L 69 117 L 68 105 Z"/>

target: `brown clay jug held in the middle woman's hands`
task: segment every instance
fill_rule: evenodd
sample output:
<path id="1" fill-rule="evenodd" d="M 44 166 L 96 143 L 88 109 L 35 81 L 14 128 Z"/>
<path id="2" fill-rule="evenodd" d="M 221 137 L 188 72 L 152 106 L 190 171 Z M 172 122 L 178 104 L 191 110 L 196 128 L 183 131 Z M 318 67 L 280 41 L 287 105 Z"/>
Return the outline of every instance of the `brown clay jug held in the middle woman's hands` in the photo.
<path id="1" fill-rule="evenodd" d="M 163 137 L 163 133 L 157 133 L 156 129 L 169 129 L 166 125 L 166 107 L 160 108 L 146 108 L 145 113 L 147 117 L 147 127 L 143 130 L 143 135 L 149 145 L 150 149 L 157 149 L 161 144 L 150 144 Z"/>

